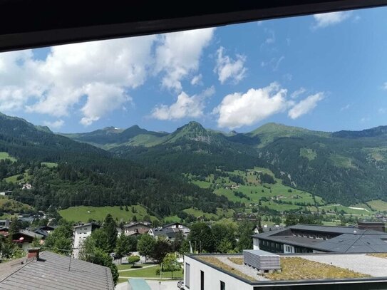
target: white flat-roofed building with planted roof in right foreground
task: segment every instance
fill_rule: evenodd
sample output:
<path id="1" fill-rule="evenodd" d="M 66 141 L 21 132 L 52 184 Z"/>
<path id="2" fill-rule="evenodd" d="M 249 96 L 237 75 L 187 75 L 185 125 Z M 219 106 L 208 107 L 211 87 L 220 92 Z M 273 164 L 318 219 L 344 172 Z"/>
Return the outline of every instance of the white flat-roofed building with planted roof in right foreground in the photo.
<path id="1" fill-rule="evenodd" d="M 265 272 L 245 264 L 242 254 L 188 255 L 184 289 L 387 289 L 386 255 L 372 255 L 279 254 L 281 270 Z"/>

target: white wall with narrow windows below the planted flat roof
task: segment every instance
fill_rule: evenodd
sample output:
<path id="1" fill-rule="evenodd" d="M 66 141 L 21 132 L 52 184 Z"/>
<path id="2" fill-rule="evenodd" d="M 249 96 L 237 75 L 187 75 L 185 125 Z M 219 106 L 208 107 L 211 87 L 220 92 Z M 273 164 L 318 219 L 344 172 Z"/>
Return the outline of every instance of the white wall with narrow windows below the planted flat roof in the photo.
<path id="1" fill-rule="evenodd" d="M 253 286 L 244 281 L 187 256 L 184 258 L 184 285 L 187 285 L 187 281 L 185 280 L 187 277 L 186 264 L 190 264 L 190 287 L 185 286 L 187 290 L 202 290 L 200 289 L 200 271 L 203 271 L 205 274 L 204 290 L 220 290 L 220 281 L 225 282 L 226 290 L 253 290 Z"/>

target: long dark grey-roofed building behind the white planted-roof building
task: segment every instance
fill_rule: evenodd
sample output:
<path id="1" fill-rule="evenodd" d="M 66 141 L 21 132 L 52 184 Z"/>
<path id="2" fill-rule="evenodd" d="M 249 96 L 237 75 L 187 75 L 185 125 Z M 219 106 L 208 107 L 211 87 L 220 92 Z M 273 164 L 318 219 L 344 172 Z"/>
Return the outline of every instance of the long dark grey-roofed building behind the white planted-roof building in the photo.
<path id="1" fill-rule="evenodd" d="M 386 253 L 387 233 L 358 227 L 296 224 L 254 234 L 253 249 L 272 253 Z"/>

